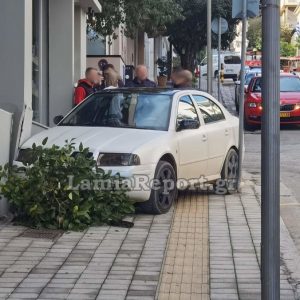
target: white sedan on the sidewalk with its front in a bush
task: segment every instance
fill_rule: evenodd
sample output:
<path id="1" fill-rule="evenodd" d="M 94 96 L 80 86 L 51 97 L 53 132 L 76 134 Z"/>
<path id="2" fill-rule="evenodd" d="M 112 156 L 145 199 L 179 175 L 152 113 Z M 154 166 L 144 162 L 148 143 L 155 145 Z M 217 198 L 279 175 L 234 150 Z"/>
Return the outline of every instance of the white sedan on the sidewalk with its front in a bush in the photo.
<path id="1" fill-rule="evenodd" d="M 194 184 L 236 188 L 238 119 L 207 93 L 110 89 L 55 121 L 56 127 L 26 141 L 20 154 L 45 137 L 49 146 L 74 138 L 102 169 L 133 182 L 129 196 L 145 212 L 167 212 L 177 189 Z"/>

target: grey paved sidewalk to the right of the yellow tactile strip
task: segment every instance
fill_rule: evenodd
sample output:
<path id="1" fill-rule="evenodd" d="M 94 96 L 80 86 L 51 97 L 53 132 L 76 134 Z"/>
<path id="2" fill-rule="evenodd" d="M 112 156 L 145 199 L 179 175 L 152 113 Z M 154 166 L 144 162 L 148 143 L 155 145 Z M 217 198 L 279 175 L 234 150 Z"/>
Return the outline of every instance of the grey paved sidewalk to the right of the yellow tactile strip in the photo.
<path id="1" fill-rule="evenodd" d="M 244 174 L 241 194 L 209 197 L 211 300 L 258 300 L 261 297 L 258 181 L 258 176 Z M 292 241 L 283 222 L 281 232 L 284 257 Z M 299 258 L 299 254 L 296 255 Z M 293 270 L 282 260 L 281 299 L 300 299 L 296 282 Z"/>

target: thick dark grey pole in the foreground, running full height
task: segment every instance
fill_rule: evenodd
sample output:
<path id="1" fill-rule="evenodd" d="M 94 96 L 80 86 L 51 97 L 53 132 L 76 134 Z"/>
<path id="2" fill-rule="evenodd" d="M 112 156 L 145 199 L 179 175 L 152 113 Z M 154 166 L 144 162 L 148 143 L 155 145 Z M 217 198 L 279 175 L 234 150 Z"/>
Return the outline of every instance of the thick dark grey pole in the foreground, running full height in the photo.
<path id="1" fill-rule="evenodd" d="M 280 0 L 262 1 L 261 284 L 280 299 Z"/>

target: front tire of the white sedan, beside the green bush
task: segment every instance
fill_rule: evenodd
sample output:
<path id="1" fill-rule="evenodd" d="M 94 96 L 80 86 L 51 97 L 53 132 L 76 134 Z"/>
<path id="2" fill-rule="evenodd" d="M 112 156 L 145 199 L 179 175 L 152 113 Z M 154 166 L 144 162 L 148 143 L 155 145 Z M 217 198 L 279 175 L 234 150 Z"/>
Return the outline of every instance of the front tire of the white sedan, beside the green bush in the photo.
<path id="1" fill-rule="evenodd" d="M 148 201 L 137 203 L 138 210 L 147 214 L 167 213 L 177 199 L 176 173 L 173 166 L 166 161 L 159 161 L 155 170 L 155 180 L 160 181 L 160 186 L 152 188 Z M 167 191 L 164 191 L 164 180 L 171 180 Z M 171 186 L 173 182 L 173 187 Z"/>

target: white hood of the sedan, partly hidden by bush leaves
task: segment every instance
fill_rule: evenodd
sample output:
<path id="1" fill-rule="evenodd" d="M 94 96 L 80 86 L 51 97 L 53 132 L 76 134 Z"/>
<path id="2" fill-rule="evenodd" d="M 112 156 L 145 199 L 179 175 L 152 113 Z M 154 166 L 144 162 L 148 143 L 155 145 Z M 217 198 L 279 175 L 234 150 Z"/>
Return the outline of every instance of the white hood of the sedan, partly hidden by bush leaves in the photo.
<path id="1" fill-rule="evenodd" d="M 93 153 L 100 151 L 133 153 L 141 145 L 167 135 L 167 133 L 167 131 L 131 128 L 57 126 L 31 137 L 21 148 L 31 148 L 33 143 L 41 145 L 47 137 L 46 146 L 48 147 L 53 144 L 62 147 L 66 144 L 66 140 L 74 139 L 76 148 L 82 143 Z"/>

